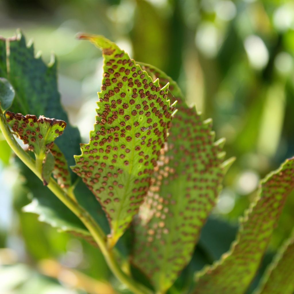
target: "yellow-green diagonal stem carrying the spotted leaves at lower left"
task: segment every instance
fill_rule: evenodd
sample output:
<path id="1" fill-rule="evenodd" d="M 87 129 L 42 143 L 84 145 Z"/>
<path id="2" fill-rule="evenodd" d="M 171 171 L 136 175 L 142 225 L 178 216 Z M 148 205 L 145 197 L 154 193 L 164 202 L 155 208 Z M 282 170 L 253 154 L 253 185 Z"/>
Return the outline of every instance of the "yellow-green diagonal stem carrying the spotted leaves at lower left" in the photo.
<path id="1" fill-rule="evenodd" d="M 2 110 L 0 108 L 0 130 L 6 139 L 7 143 L 14 151 L 14 153 L 23 161 L 23 163 L 28 166 L 31 171 L 35 173 L 35 175 L 42 180 L 41 172 L 39 168 L 36 167 L 36 162 L 21 148 L 21 146 L 16 142 L 14 136 L 12 135 Z M 109 268 L 113 272 L 113 274 L 121 281 L 121 283 L 125 284 L 129 290 L 133 291 L 136 294 L 152 294 L 152 291 L 148 288 L 144 287 L 141 284 L 138 284 L 131 277 L 126 275 L 121 270 L 120 265 L 117 263 L 116 259 L 113 256 L 113 251 L 107 246 L 107 237 L 104 234 L 103 230 L 100 226 L 95 222 L 95 220 L 90 216 L 90 214 L 84 210 L 73 198 L 73 195 L 68 195 L 65 191 L 61 189 L 61 187 L 51 179 L 47 186 L 56 196 L 61 200 L 78 218 L 81 219 L 83 224 L 89 230 L 94 240 L 98 244 Z M 73 193 L 72 193 L 73 194 Z"/>

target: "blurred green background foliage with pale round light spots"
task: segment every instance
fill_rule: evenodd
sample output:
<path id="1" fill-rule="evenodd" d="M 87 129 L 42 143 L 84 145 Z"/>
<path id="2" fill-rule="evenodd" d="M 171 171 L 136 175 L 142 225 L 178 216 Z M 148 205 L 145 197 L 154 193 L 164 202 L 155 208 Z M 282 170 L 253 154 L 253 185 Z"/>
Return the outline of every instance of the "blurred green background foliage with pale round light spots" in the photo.
<path id="1" fill-rule="evenodd" d="M 76 33 L 102 34 L 178 81 L 237 157 L 192 270 L 228 250 L 260 179 L 294 155 L 294 1 L 0 1 L 0 35 L 17 28 L 46 62 L 56 54 L 62 104 L 85 143 L 103 61 Z M 97 248 L 21 211 L 31 193 L 23 183 L 0 134 L 0 293 L 123 293 Z M 290 197 L 260 273 L 290 234 L 293 211 Z"/>

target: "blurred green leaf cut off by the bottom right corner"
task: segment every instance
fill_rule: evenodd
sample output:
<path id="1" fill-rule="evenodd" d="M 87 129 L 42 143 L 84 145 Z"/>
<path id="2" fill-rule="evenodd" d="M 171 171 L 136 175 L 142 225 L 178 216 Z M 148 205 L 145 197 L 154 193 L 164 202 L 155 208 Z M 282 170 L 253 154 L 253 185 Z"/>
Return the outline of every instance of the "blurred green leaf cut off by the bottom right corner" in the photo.
<path id="1" fill-rule="evenodd" d="M 283 244 L 268 270 L 261 286 L 255 294 L 294 293 L 294 229 L 290 238 Z"/>

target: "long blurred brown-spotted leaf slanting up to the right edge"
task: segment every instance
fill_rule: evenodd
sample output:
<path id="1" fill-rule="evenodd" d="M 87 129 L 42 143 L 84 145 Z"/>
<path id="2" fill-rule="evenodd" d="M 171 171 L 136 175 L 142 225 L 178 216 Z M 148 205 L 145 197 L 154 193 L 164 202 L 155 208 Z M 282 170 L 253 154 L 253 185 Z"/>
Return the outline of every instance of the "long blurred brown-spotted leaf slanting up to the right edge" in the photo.
<path id="1" fill-rule="evenodd" d="M 294 158 L 291 158 L 261 182 L 259 196 L 245 212 L 230 251 L 197 274 L 194 294 L 241 294 L 246 291 L 293 188 Z"/>

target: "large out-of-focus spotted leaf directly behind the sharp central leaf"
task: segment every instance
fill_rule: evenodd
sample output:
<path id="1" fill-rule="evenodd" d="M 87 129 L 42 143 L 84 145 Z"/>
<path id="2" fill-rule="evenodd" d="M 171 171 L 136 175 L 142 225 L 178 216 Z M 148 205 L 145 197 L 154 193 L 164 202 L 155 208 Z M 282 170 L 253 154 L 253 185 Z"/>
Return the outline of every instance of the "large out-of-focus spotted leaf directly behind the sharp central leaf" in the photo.
<path id="1" fill-rule="evenodd" d="M 169 98 L 178 100 L 167 152 L 134 221 L 132 261 L 158 293 L 165 293 L 190 261 L 232 160 L 223 162 L 224 140 L 214 142 L 211 120 L 203 121 L 186 105 L 176 82 L 152 66 L 142 67 L 160 82 L 170 82 Z"/>

